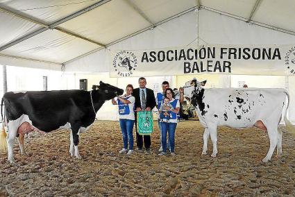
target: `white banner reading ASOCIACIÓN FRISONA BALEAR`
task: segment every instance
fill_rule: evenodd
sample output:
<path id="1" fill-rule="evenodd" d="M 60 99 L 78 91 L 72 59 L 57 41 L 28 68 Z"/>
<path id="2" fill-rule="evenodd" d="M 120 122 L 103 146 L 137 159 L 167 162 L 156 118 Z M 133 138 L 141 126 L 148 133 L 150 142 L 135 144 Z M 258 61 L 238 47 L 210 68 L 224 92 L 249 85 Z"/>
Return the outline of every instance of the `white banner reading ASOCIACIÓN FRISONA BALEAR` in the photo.
<path id="1" fill-rule="evenodd" d="M 110 51 L 110 76 L 295 75 L 294 45 L 206 45 Z"/>

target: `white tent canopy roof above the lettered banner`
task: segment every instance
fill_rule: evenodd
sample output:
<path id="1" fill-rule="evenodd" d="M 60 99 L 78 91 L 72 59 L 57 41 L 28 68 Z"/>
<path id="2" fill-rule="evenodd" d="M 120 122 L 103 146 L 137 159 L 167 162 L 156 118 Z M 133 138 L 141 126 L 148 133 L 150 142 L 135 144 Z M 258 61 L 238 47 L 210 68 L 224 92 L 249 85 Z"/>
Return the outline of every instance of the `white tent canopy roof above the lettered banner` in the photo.
<path id="1" fill-rule="evenodd" d="M 17 59 L 25 58 L 26 67 L 27 61 L 39 60 L 40 67 L 60 69 L 142 32 L 153 34 L 153 40 L 128 43 L 128 49 L 194 40 L 194 44 L 290 44 L 295 35 L 294 8 L 292 0 L 1 0 L 0 63 L 19 65 Z M 178 23 L 166 28 L 172 19 Z M 260 31 L 260 26 L 273 31 Z M 269 36 L 260 40 L 265 32 Z M 96 65 L 96 71 L 105 68 Z"/>

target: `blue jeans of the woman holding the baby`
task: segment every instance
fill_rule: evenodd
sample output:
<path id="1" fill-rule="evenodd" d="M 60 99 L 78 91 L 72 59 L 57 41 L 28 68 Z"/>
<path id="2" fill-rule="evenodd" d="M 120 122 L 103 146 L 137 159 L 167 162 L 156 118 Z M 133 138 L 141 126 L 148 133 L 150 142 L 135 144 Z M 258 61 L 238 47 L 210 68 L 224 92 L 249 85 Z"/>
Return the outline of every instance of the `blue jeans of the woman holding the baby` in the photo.
<path id="1" fill-rule="evenodd" d="M 161 122 L 162 147 L 163 147 L 164 153 L 166 153 L 166 148 L 167 148 L 167 131 L 168 131 L 168 135 L 169 135 L 169 142 L 170 142 L 170 148 L 171 148 L 170 151 L 171 151 L 171 153 L 174 153 L 176 126 L 177 126 L 177 123 Z"/>

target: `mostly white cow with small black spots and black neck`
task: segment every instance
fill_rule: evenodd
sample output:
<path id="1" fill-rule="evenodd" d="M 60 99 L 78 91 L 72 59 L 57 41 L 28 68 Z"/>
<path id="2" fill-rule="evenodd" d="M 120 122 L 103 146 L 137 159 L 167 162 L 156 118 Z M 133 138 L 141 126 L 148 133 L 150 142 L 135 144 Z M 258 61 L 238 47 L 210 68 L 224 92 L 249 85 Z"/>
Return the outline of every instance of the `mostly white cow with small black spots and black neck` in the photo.
<path id="1" fill-rule="evenodd" d="M 212 157 L 217 155 L 217 126 L 250 128 L 257 126 L 267 130 L 269 151 L 262 160 L 268 162 L 277 147 L 277 156 L 282 155 L 282 131 L 278 129 L 283 107 L 286 104 L 285 89 L 258 88 L 212 88 L 204 89 L 206 81 L 192 81 L 192 105 L 196 107 L 199 120 L 205 127 L 203 152 L 206 155 L 209 135 L 213 144 Z M 287 112 L 287 108 L 285 112 Z M 285 113 L 285 123 L 289 123 Z"/>

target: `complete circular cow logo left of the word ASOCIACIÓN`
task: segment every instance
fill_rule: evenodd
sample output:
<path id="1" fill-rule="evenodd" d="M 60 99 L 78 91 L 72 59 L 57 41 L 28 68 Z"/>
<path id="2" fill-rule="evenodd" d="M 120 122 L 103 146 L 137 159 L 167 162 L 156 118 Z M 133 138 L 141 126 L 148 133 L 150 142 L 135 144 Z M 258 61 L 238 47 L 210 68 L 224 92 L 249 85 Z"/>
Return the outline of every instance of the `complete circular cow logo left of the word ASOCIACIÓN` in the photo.
<path id="1" fill-rule="evenodd" d="M 132 76 L 137 67 L 137 58 L 131 51 L 120 51 L 112 60 L 112 67 L 119 76 Z"/>

